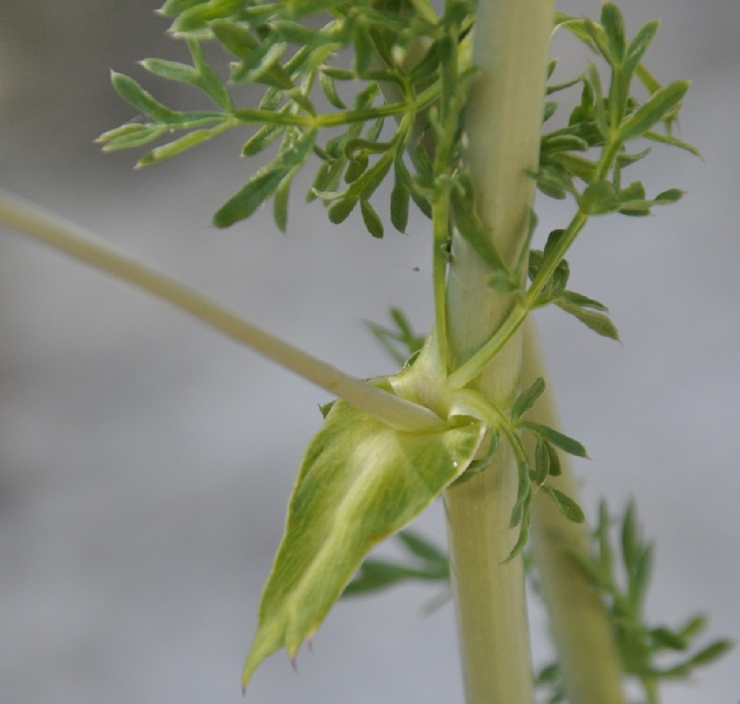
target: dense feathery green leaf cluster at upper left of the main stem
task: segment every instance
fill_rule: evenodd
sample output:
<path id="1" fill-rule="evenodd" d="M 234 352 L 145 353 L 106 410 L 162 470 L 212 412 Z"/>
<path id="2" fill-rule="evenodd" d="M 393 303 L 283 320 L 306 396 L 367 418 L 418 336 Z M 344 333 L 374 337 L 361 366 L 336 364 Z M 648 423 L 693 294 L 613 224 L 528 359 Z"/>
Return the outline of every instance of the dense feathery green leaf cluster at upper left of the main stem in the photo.
<path id="1" fill-rule="evenodd" d="M 472 7 L 471 0 L 450 1 L 440 17 L 427 0 L 168 0 L 161 13 L 173 19 L 170 32 L 187 41 L 193 64 L 149 58 L 141 65 L 159 78 L 200 89 L 217 110 L 170 110 L 134 79 L 114 73 L 115 90 L 147 121 L 124 124 L 99 141 L 113 151 L 185 133 L 147 152 L 138 162 L 145 166 L 232 127 L 254 125 L 243 155 L 274 144 L 277 155 L 218 210 L 216 226 L 248 218 L 274 198 L 275 221 L 284 231 L 293 179 L 314 155 L 320 166 L 308 199 L 322 200 L 330 221 L 343 222 L 359 206 L 370 234 L 383 236 L 383 218 L 371 198 L 392 172 L 390 220 L 403 232 L 411 200 L 431 214 L 433 172 L 420 140 L 435 129 L 428 108 L 436 104 L 438 116 L 450 112 L 472 75 L 450 70 L 457 58 L 454 35 L 469 30 Z M 227 80 L 206 61 L 203 42 L 215 42 L 235 58 Z M 247 84 L 263 90 L 256 108 L 237 107 L 235 91 Z M 383 90 L 396 101 L 383 104 Z M 327 103 L 332 112 L 322 113 Z M 390 138 L 383 130 L 388 117 L 397 118 Z"/>

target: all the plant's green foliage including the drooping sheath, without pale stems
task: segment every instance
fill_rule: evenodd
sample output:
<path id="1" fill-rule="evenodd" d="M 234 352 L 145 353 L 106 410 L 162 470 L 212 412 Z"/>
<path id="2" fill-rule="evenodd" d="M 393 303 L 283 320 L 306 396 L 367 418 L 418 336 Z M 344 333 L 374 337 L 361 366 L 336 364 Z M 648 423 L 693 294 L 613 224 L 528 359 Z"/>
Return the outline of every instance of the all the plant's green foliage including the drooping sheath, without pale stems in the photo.
<path id="1" fill-rule="evenodd" d="M 430 407 L 446 425 L 431 434 L 400 433 L 343 401 L 322 409 L 325 426 L 300 469 L 286 535 L 263 594 L 245 683 L 280 647 L 295 657 L 343 591 L 360 594 L 406 579 L 445 579 L 443 555 L 408 532 L 400 540 L 414 557 L 411 563 L 363 558 L 452 482 L 485 471 L 502 439 L 514 451 L 519 476 L 510 521 L 512 528 L 519 526 L 519 537 L 508 559 L 525 548 L 535 492 L 545 492 L 568 519 L 584 520 L 582 509 L 548 480 L 562 471 L 559 452 L 586 457 L 585 448 L 526 419 L 544 391 L 542 379 L 510 409 L 499 409 L 467 387 L 530 312 L 542 306 L 554 304 L 599 335 L 619 339 L 606 306 L 568 289 L 565 256 L 593 216 L 645 216 L 653 207 L 682 198 L 675 188 L 649 196 L 640 181 L 625 185 L 623 172 L 650 155 L 646 143 L 698 154 L 673 135 L 689 84 L 662 86 L 643 64 L 658 33 L 657 21 L 630 39 L 612 2 L 603 5 L 598 23 L 557 14 L 556 28 L 588 46 L 602 68 L 590 64 L 582 75 L 548 86 L 548 96 L 579 90 L 580 100 L 565 126 L 545 129 L 539 167 L 531 177 L 545 195 L 572 198 L 576 214 L 566 227 L 548 235 L 543 249 L 530 249 L 528 242 L 509 268 L 477 214 L 474 181 L 463 158 L 464 110 L 476 78 L 471 65 L 474 10 L 473 0 L 447 0 L 439 14 L 428 0 L 167 0 L 161 12 L 172 18 L 172 34 L 187 42 L 192 65 L 153 58 L 141 65 L 158 78 L 195 87 L 216 109 L 171 110 L 132 78 L 112 76 L 115 90 L 144 121 L 101 135 L 104 150 L 142 147 L 180 133 L 150 150 L 140 166 L 171 158 L 226 130 L 252 128 L 242 153 L 261 155 L 266 164 L 218 210 L 217 227 L 249 218 L 272 198 L 275 221 L 285 231 L 292 184 L 314 161 L 317 168 L 306 198 L 322 201 L 333 224 L 342 224 L 359 206 L 369 234 L 382 238 L 386 218 L 377 208 L 377 191 L 388 178 L 388 218 L 395 229 L 406 231 L 411 201 L 432 221 L 434 330 L 419 357 L 388 380 L 388 390 Z M 218 44 L 232 58 L 228 79 L 206 61 L 204 42 Z M 552 61 L 551 81 L 555 73 Z M 260 89 L 258 107 L 239 107 L 240 87 L 246 85 Z M 327 105 L 331 110 L 324 112 Z M 559 103 L 548 99 L 543 122 L 548 124 L 558 109 Z M 534 213 L 531 222 L 530 241 Z M 511 315 L 491 340 L 457 369 L 450 369 L 445 301 L 453 229 L 490 269 L 489 285 L 513 301 Z M 419 352 L 423 338 L 400 310 L 391 309 L 391 318 L 394 327 L 369 327 L 403 364 Z M 485 432 L 488 450 L 474 460 Z M 534 457 L 524 450 L 522 432 L 536 439 Z M 678 631 L 638 628 L 650 549 L 639 543 L 633 512 L 628 512 L 623 532 L 628 538 L 622 547 L 629 583 L 625 593 L 619 591 L 602 519 L 599 557 L 596 563 L 584 563 L 584 569 L 592 576 L 598 573 L 595 583 L 613 600 L 620 646 L 633 657 L 627 663 L 630 674 L 644 683 L 669 673 L 678 676 L 719 652 L 724 646 L 713 644 L 676 666 L 656 669 L 653 656 L 666 648 L 686 650 L 696 622 Z M 556 676 L 557 669 L 549 668 L 540 680 L 555 686 Z M 556 691 L 551 701 L 559 701 L 558 696 Z"/>

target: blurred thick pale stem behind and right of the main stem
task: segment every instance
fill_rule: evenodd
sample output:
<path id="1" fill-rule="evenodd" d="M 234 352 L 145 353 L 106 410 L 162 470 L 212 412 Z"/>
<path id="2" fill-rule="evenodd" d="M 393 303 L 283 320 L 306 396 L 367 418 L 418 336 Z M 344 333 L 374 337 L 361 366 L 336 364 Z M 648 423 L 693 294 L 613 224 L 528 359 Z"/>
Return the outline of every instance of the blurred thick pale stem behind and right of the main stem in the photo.
<path id="1" fill-rule="evenodd" d="M 522 386 L 529 386 L 538 377 L 547 377 L 545 362 L 534 324 L 528 321 L 524 332 Z M 549 386 L 527 418 L 551 428 L 559 427 Z M 524 442 L 528 454 L 534 457 L 531 435 L 525 435 Z M 548 483 L 579 501 L 570 457 L 562 455 L 560 463 L 562 475 L 551 477 Z M 534 497 L 532 508 L 531 546 L 568 701 L 571 704 L 625 704 L 622 666 L 607 611 L 569 554 L 573 551 L 589 554 L 588 527 L 566 519 L 544 492 Z"/>

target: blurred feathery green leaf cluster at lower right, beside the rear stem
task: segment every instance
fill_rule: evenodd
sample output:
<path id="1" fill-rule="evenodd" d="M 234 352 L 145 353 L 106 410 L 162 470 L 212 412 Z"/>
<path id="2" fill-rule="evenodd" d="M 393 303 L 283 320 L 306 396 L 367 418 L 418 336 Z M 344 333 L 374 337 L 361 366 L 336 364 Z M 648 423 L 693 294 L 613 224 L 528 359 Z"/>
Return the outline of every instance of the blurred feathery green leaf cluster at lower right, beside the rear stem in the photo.
<path id="1" fill-rule="evenodd" d="M 607 505 L 599 506 L 599 523 L 593 532 L 593 554 L 573 552 L 571 557 L 605 601 L 625 673 L 642 685 L 644 704 L 659 703 L 659 684 L 690 677 L 726 653 L 732 643 L 713 640 L 698 647 L 707 627 L 695 615 L 676 627 L 651 625 L 645 617 L 645 597 L 653 566 L 653 544 L 642 538 L 635 505 L 630 502 L 619 522 L 619 542 L 613 540 Z M 552 663 L 537 677 L 550 691 L 548 704 L 565 701 L 559 668 Z M 642 704 L 642 703 L 641 703 Z"/>

